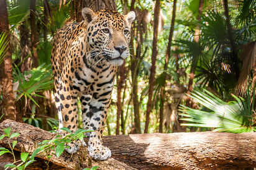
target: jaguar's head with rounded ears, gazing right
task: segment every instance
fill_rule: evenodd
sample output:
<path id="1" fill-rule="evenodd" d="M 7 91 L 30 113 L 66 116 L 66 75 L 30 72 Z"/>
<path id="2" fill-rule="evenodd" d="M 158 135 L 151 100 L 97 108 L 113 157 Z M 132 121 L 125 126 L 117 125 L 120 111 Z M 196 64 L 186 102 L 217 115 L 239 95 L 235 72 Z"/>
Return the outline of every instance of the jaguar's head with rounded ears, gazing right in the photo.
<path id="1" fill-rule="evenodd" d="M 86 24 L 86 41 L 93 54 L 101 54 L 114 66 L 120 66 L 129 56 L 130 27 L 135 12 L 127 15 L 116 11 L 101 10 L 94 13 L 89 8 L 82 11 Z M 103 58 L 102 58 L 103 57 Z"/>

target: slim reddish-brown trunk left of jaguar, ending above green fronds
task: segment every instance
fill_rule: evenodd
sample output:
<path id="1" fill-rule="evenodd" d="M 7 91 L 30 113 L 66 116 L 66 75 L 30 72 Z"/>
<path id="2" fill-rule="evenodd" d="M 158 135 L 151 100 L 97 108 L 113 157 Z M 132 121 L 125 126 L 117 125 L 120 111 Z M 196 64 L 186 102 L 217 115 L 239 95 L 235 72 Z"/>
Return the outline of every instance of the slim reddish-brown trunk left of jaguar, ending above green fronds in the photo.
<path id="1" fill-rule="evenodd" d="M 31 28 L 31 46 L 33 67 L 39 66 L 39 56 L 37 54 L 37 43 L 39 43 L 39 36 L 37 34 L 37 24 L 35 22 L 35 1 L 30 0 L 30 28 Z"/>

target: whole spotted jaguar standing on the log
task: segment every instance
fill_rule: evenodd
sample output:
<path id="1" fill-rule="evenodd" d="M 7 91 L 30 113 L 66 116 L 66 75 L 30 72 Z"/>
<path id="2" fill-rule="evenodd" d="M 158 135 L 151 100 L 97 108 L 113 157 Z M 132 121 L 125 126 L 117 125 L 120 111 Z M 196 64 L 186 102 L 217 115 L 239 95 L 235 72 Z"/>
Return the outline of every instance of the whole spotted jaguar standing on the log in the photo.
<path id="1" fill-rule="evenodd" d="M 52 70 L 59 129 L 78 129 L 79 96 L 84 129 L 95 130 L 89 135 L 88 151 L 94 159 L 111 156 L 102 145 L 107 109 L 116 75 L 116 68 L 129 56 L 130 25 L 135 13 L 121 15 L 116 11 L 94 13 L 85 8 L 84 21 L 71 23 L 58 30 L 52 49 Z M 83 143 L 83 142 L 82 142 Z M 67 150 L 75 153 L 78 143 Z"/>

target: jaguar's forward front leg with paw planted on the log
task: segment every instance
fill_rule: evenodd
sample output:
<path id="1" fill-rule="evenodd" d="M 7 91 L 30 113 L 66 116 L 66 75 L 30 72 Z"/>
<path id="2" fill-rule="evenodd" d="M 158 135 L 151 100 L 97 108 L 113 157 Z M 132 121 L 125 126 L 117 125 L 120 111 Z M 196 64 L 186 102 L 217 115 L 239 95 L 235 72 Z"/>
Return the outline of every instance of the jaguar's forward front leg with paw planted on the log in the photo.
<path id="1" fill-rule="evenodd" d="M 107 108 L 109 102 L 101 103 L 95 99 L 91 100 L 90 107 L 90 128 L 94 130 L 89 136 L 88 151 L 89 156 L 97 160 L 106 160 L 111 157 L 111 150 L 103 146 L 103 130 L 106 124 Z"/>

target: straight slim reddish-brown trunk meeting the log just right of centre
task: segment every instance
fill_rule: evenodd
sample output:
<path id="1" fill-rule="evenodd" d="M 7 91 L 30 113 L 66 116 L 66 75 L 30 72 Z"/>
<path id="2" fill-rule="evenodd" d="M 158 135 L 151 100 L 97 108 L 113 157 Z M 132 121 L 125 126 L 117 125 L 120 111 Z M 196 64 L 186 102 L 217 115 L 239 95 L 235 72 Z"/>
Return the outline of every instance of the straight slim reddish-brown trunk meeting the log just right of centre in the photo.
<path id="1" fill-rule="evenodd" d="M 154 25 L 153 25 L 153 45 L 152 45 L 152 58 L 151 58 L 151 68 L 150 68 L 150 76 L 149 76 L 149 100 L 147 102 L 147 113 L 146 113 L 146 122 L 145 122 L 145 130 L 144 133 L 147 134 L 149 129 L 149 116 L 152 110 L 152 96 L 153 96 L 153 87 L 155 85 L 155 61 L 157 60 L 157 40 L 158 40 L 158 20 L 160 15 L 160 0 L 155 2 L 155 10 L 154 10 Z"/>

